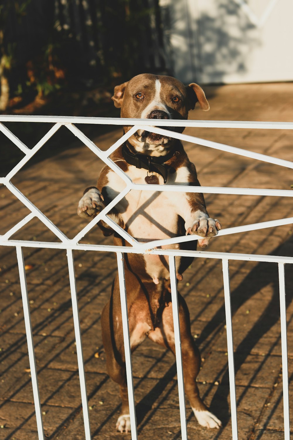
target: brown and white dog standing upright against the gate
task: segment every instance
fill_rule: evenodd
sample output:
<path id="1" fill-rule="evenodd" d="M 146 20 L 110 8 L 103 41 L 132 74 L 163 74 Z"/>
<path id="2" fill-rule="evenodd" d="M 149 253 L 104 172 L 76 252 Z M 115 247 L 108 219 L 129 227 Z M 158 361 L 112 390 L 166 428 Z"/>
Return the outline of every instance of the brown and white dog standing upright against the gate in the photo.
<path id="1" fill-rule="evenodd" d="M 112 97 L 121 117 L 150 119 L 187 119 L 188 110 L 199 102 L 209 110 L 203 90 L 197 84 L 184 86 L 173 77 L 141 74 L 114 89 Z M 127 132 L 130 127 L 124 127 Z M 183 131 L 183 128 L 170 128 Z M 163 185 L 199 185 L 195 166 L 188 160 L 182 143 L 168 136 L 138 130 L 110 158 L 134 183 Z M 150 176 L 149 176 L 150 174 Z M 125 187 L 124 181 L 107 165 L 101 170 L 97 187 L 89 187 L 80 199 L 78 215 L 92 217 L 108 205 Z M 206 247 L 210 237 L 221 229 L 218 220 L 209 217 L 203 194 L 130 191 L 108 214 L 119 226 L 139 242 L 197 234 L 200 247 Z M 104 222 L 99 226 L 105 235 L 114 231 Z M 129 246 L 114 233 L 114 243 Z M 166 246 L 173 249 L 196 249 L 196 241 Z M 177 279 L 190 265 L 189 258 L 176 258 Z M 148 337 L 175 354 L 170 273 L 168 260 L 156 255 L 125 254 L 125 282 L 129 315 L 130 345 L 133 351 Z M 200 354 L 190 330 L 187 305 L 178 293 L 182 360 L 185 392 L 195 417 L 207 428 L 221 427 L 199 396 L 196 377 L 200 369 Z M 118 274 L 112 294 L 101 316 L 102 337 L 107 370 L 120 386 L 121 415 L 116 428 L 130 431 L 122 317 Z"/>

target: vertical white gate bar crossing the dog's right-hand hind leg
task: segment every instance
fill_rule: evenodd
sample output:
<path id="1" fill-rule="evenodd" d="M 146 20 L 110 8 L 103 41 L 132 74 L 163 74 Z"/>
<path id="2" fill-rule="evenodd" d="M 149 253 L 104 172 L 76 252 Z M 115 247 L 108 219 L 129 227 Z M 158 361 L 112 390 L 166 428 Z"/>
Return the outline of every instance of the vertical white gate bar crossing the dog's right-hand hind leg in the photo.
<path id="1" fill-rule="evenodd" d="M 178 308 L 178 294 L 177 294 L 177 278 L 175 257 L 169 257 L 169 270 L 171 282 L 171 297 L 172 297 L 172 311 L 174 323 L 174 337 L 176 350 L 176 366 L 177 366 L 177 380 L 178 380 L 178 395 L 180 408 L 180 422 L 181 422 L 181 438 L 187 440 L 187 423 L 186 423 L 186 408 L 185 408 L 185 394 L 184 394 L 184 379 L 183 379 L 183 365 L 182 365 L 182 351 L 181 351 L 181 336 L 179 323 L 179 308 Z"/>

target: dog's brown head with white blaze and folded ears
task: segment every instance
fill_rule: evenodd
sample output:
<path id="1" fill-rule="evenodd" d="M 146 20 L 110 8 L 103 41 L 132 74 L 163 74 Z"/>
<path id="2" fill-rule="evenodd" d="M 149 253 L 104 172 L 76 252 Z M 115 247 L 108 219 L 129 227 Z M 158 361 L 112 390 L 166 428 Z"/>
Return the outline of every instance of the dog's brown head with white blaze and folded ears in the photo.
<path id="1" fill-rule="evenodd" d="M 202 110 L 209 110 L 203 89 L 192 83 L 184 86 L 181 81 L 165 75 L 143 73 L 123 84 L 117 85 L 112 96 L 115 107 L 121 108 L 121 117 L 148 119 L 187 119 L 188 111 L 199 102 Z M 131 127 L 124 127 L 127 132 Z M 184 127 L 165 127 L 182 132 Z M 143 153 L 167 152 L 174 140 L 145 130 L 137 130 L 130 137 L 130 144 Z"/>

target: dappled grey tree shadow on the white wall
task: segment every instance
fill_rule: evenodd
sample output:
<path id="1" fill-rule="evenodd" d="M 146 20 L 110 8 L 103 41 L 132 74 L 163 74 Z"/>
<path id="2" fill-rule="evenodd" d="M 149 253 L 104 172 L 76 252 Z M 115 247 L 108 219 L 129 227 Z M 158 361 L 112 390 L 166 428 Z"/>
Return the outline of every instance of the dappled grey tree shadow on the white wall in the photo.
<path id="1" fill-rule="evenodd" d="M 161 7 L 168 67 L 184 82 L 206 77 L 202 82 L 221 84 L 226 74 L 246 73 L 247 57 L 260 45 L 257 26 L 239 4 L 219 0 L 215 8 L 193 19 L 181 1 Z"/>

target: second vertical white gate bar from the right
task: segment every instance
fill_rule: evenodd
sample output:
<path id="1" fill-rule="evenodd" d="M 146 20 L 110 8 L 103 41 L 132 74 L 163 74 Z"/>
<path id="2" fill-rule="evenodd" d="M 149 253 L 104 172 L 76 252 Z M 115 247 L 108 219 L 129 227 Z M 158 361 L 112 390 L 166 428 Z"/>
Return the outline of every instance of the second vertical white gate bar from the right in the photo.
<path id="1" fill-rule="evenodd" d="M 228 260 L 223 259 L 222 266 L 223 266 L 226 332 L 227 332 L 227 347 L 228 347 L 228 368 L 229 368 L 229 385 L 230 385 L 230 401 L 231 401 L 232 439 L 237 440 L 238 439 L 237 403 L 236 403 L 231 294 L 230 294 L 230 279 L 229 279 Z"/>

